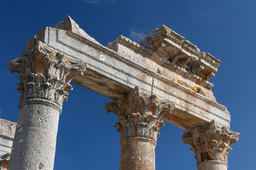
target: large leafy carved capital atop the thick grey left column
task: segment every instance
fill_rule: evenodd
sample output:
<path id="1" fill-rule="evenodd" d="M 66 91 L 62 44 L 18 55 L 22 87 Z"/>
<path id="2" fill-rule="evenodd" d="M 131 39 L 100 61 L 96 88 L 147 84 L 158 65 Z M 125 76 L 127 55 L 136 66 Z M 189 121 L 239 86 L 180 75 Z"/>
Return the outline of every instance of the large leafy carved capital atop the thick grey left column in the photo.
<path id="1" fill-rule="evenodd" d="M 62 108 L 68 99 L 70 81 L 85 72 L 86 64 L 55 52 L 43 42 L 36 42 L 22 57 L 9 61 L 11 72 L 18 72 L 20 103 L 46 101 Z"/>

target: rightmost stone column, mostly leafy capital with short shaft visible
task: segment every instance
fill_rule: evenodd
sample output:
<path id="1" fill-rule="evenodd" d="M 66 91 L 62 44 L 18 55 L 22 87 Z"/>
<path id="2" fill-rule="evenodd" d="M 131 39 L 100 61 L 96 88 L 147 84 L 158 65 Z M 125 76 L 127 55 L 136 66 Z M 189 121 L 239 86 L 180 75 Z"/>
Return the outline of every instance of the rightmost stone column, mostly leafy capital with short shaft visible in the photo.
<path id="1" fill-rule="evenodd" d="M 238 142 L 239 135 L 212 120 L 203 127 L 183 132 L 182 140 L 195 152 L 198 170 L 227 170 L 228 153 L 231 145 Z"/>

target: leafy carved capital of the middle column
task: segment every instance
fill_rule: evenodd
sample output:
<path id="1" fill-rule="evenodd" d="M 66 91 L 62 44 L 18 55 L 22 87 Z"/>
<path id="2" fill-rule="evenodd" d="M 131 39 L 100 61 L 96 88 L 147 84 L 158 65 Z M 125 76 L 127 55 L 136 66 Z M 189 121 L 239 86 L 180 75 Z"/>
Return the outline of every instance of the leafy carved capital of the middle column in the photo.
<path id="1" fill-rule="evenodd" d="M 135 87 L 126 98 L 105 103 L 107 113 L 118 115 L 119 122 L 114 124 L 121 135 L 121 141 L 130 137 L 149 140 L 156 145 L 159 128 L 164 126 L 161 117 L 171 114 L 174 104 L 159 100 L 154 95 L 144 93 Z"/>

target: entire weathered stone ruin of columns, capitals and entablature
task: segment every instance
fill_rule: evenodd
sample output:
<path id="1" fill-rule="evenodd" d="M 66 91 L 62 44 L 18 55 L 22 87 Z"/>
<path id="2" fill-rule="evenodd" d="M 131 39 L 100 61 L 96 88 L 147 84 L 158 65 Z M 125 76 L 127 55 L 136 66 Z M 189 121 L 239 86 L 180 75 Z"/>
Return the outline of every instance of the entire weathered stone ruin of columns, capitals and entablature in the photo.
<path id="1" fill-rule="evenodd" d="M 208 81 L 220 60 L 166 26 L 139 44 L 120 35 L 105 47 L 68 16 L 55 28 L 43 28 L 22 57 L 8 64 L 19 73 L 21 95 L 12 149 L 15 123 L 1 120 L 2 169 L 10 152 L 10 170 L 53 169 L 58 119 L 71 81 L 113 99 L 105 108 L 118 115 L 119 169 L 155 169 L 163 120 L 187 130 L 182 140 L 195 152 L 198 169 L 228 169 L 228 153 L 240 134 L 230 131 L 230 113 Z"/>

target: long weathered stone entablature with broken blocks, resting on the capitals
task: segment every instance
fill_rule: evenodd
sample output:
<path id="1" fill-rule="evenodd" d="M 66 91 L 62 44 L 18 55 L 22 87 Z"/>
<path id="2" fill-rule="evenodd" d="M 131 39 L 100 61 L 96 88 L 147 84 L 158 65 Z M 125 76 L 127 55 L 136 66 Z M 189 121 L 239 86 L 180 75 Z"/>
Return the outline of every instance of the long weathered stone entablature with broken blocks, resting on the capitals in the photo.
<path id="1" fill-rule="evenodd" d="M 154 32 L 141 45 L 121 35 L 105 47 L 88 38 L 68 17 L 55 28 L 43 28 L 29 40 L 27 48 L 41 41 L 56 52 L 87 62 L 87 72 L 73 82 L 109 98 L 122 98 L 139 86 L 148 94 L 174 103 L 173 114 L 162 119 L 185 130 L 210 120 L 229 127 L 230 113 L 217 103 L 211 91 L 213 84 L 208 81 L 217 72 L 219 60 L 199 52 L 195 45 L 165 26 Z M 161 44 L 154 45 L 155 39 Z M 169 54 L 174 47 L 185 59 Z"/>

